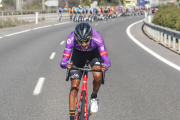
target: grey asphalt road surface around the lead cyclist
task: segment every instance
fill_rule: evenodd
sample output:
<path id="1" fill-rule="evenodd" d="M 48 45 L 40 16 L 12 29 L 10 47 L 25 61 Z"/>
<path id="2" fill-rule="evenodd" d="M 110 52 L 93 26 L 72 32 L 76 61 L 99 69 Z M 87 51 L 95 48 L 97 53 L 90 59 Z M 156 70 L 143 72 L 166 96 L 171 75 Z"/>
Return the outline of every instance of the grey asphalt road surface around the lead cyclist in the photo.
<path id="1" fill-rule="evenodd" d="M 98 93 L 99 111 L 90 120 L 180 119 L 179 71 L 144 51 L 126 34 L 130 24 L 143 18 L 130 16 L 90 23 L 103 36 L 112 63 Z M 62 41 L 76 24 L 0 39 L 1 120 L 69 119 L 70 82 L 65 81 L 66 70 L 59 64 L 65 47 Z M 89 75 L 90 94 L 93 78 Z M 40 78 L 42 89 L 35 94 Z"/>

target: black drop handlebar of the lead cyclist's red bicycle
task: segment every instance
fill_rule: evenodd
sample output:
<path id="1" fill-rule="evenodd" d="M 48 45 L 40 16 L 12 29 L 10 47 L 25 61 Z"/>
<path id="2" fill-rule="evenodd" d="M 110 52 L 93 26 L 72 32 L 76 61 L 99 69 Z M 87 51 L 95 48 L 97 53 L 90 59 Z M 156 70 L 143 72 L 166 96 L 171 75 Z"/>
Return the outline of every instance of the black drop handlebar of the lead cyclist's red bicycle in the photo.
<path id="1" fill-rule="evenodd" d="M 104 84 L 105 81 L 105 71 L 101 71 L 100 69 L 89 69 L 89 68 L 77 68 L 77 67 L 71 67 L 71 69 L 67 69 L 66 73 L 66 81 L 69 80 L 69 73 L 70 70 L 80 70 L 80 71 L 86 71 L 86 72 L 102 72 L 102 84 Z"/>

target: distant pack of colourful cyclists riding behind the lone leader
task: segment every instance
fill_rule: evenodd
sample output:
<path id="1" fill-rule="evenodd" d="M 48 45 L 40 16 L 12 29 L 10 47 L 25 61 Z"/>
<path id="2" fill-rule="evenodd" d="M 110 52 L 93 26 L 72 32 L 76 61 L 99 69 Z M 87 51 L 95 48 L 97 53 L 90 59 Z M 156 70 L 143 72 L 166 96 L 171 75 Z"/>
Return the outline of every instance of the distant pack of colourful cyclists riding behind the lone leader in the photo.
<path id="1" fill-rule="evenodd" d="M 100 6 L 100 7 L 72 7 L 69 10 L 70 20 L 73 21 L 93 21 L 107 20 L 108 18 L 120 17 L 122 15 L 137 15 L 144 14 L 144 7 L 137 6 Z"/>

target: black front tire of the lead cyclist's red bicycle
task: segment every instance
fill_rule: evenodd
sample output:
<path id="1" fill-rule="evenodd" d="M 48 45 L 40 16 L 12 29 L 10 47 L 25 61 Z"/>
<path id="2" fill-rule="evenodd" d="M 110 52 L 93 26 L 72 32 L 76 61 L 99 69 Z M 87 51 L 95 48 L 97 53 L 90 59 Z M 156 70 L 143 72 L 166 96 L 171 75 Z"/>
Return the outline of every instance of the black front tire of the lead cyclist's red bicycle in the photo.
<path id="1" fill-rule="evenodd" d="M 85 120 L 86 118 L 84 118 L 84 108 L 85 108 L 85 102 L 86 102 L 86 100 L 85 100 L 85 97 L 86 97 L 86 92 L 85 91 L 83 91 L 82 92 L 82 99 L 81 99 L 81 106 L 80 106 L 80 112 L 79 112 L 79 116 L 78 116 L 78 120 Z"/>

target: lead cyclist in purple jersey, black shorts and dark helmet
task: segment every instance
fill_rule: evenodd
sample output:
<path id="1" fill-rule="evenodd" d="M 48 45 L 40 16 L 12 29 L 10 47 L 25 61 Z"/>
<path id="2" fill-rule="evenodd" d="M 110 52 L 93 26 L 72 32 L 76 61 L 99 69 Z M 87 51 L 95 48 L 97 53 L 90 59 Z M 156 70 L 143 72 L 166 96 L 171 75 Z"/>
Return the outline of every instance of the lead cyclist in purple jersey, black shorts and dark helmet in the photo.
<path id="1" fill-rule="evenodd" d="M 71 62 L 68 62 L 70 56 Z M 60 66 L 62 68 L 71 69 L 72 66 L 82 68 L 86 60 L 90 60 L 90 65 L 93 69 L 101 69 L 107 71 L 111 65 L 108 58 L 107 50 L 104 44 L 104 39 L 101 34 L 92 28 L 88 23 L 79 23 L 75 30 L 69 35 L 63 58 Z M 101 86 L 101 72 L 93 72 L 93 92 L 91 94 L 91 112 L 98 111 L 97 93 Z M 70 120 L 74 120 L 77 104 L 77 94 L 79 84 L 82 77 L 82 72 L 79 70 L 70 71 L 71 90 L 69 95 L 69 113 Z"/>

